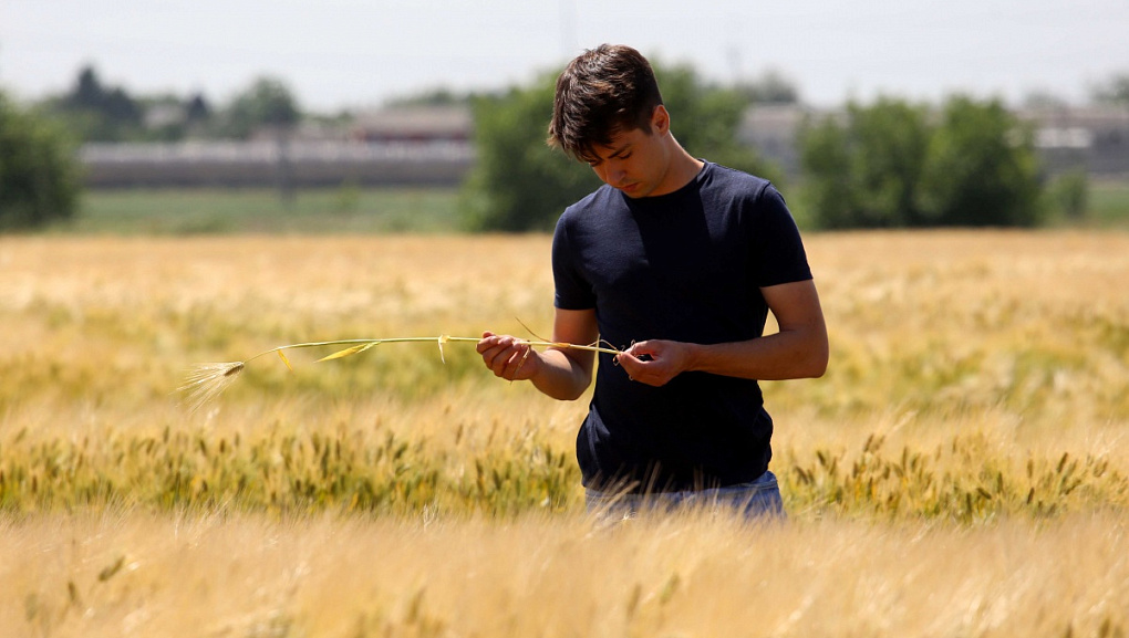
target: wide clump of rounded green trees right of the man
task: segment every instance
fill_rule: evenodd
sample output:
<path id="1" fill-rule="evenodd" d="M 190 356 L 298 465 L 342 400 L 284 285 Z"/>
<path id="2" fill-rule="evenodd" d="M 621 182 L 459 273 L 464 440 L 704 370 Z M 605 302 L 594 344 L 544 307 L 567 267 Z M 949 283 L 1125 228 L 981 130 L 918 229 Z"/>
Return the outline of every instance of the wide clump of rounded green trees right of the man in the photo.
<path id="1" fill-rule="evenodd" d="M 998 100 L 849 104 L 807 123 L 802 165 L 823 228 L 1032 225 L 1040 184 L 1030 130 Z"/>

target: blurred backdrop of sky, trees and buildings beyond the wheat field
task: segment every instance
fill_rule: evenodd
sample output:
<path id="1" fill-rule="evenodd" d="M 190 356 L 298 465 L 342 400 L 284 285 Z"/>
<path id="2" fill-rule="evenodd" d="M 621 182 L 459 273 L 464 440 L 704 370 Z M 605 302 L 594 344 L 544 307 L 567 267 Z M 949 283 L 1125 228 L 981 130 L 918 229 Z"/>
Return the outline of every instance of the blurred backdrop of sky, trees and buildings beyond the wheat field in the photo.
<path id="1" fill-rule="evenodd" d="M 595 184 L 542 148 L 551 81 L 603 42 L 808 228 L 1121 225 L 1126 33 L 1123 0 L 6 0 L 0 228 L 544 230 Z"/>

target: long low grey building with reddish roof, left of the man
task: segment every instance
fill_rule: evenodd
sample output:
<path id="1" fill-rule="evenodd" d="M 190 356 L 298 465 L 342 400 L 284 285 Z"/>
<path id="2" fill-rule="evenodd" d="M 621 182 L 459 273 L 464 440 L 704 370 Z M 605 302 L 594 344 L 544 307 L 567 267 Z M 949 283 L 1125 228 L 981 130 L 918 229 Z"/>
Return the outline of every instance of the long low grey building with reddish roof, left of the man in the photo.
<path id="1" fill-rule="evenodd" d="M 474 160 L 465 108 L 365 113 L 342 127 L 303 122 L 285 138 L 263 129 L 248 141 L 87 144 L 93 187 L 289 187 L 356 184 L 455 186 Z"/>

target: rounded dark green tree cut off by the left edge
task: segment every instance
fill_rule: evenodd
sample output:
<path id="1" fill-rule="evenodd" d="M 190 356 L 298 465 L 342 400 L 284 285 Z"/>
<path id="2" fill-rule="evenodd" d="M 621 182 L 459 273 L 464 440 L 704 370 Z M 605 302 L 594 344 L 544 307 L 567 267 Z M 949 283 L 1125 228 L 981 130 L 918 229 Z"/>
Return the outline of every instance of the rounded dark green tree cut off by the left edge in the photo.
<path id="1" fill-rule="evenodd" d="M 61 127 L 0 92 L 0 229 L 68 219 L 78 190 L 78 162 Z"/>

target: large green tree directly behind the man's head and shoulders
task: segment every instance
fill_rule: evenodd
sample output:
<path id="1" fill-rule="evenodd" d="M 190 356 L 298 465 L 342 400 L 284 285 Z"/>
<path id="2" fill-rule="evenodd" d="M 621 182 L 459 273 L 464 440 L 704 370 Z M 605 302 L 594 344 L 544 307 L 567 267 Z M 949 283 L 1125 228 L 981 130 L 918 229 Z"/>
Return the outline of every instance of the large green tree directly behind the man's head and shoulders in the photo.
<path id="1" fill-rule="evenodd" d="M 707 86 L 689 67 L 654 63 L 654 68 L 671 112 L 672 131 L 688 151 L 776 177 L 771 167 L 737 141 L 746 98 Z M 554 89 L 555 76 L 545 74 L 530 86 L 473 100 L 478 158 L 461 197 L 469 229 L 550 230 L 566 206 L 599 186 L 590 168 L 545 144 Z"/>

